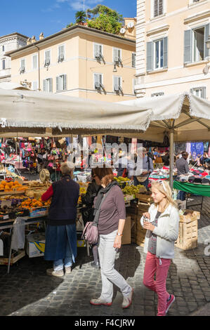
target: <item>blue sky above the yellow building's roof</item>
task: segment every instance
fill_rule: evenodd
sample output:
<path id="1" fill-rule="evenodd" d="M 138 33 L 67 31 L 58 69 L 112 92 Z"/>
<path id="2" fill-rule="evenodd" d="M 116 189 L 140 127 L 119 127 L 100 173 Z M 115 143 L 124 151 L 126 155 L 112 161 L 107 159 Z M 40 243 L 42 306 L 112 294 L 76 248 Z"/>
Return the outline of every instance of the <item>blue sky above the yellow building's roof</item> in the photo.
<path id="1" fill-rule="evenodd" d="M 44 32 L 48 37 L 74 22 L 75 13 L 84 6 L 86 10 L 97 4 L 118 11 L 124 18 L 136 17 L 136 0 L 8 0 L 1 12 L 0 36 L 18 32 L 39 39 Z"/>

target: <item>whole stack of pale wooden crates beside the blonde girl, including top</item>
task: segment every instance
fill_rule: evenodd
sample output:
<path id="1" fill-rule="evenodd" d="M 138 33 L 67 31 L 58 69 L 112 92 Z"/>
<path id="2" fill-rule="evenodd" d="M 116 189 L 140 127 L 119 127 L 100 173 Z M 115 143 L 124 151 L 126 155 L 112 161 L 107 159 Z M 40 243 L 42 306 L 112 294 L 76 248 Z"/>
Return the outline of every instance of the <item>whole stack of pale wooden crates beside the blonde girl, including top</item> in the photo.
<path id="1" fill-rule="evenodd" d="M 178 239 L 175 245 L 179 249 L 190 250 L 197 247 L 197 220 L 200 213 L 192 210 L 185 210 L 180 216 Z"/>

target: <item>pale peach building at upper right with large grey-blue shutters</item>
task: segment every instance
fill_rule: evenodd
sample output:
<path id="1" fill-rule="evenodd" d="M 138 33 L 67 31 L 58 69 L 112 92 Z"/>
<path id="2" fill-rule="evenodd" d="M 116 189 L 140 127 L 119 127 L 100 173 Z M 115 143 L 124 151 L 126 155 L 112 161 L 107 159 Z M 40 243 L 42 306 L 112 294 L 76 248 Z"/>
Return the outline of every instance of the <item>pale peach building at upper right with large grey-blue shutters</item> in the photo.
<path id="1" fill-rule="evenodd" d="M 209 34 L 209 0 L 137 0 L 136 96 L 210 100 Z"/>

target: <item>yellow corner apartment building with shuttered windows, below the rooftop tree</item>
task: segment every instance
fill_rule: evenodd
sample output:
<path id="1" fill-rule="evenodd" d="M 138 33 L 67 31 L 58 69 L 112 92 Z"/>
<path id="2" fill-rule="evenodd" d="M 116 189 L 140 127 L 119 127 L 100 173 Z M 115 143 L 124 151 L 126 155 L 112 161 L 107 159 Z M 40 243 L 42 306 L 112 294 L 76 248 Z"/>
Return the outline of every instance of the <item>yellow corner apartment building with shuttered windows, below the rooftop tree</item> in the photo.
<path id="1" fill-rule="evenodd" d="M 12 82 L 34 91 L 108 102 L 136 98 L 134 23 L 127 20 L 130 27 L 119 35 L 75 25 L 28 41 L 6 54 L 11 58 Z"/>

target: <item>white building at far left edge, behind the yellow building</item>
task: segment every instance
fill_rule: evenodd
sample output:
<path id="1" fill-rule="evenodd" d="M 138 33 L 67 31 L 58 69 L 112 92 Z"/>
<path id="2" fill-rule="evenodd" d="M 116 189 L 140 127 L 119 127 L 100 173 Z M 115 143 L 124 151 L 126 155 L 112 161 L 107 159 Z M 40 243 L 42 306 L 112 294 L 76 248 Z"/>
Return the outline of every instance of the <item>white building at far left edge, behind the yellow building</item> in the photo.
<path id="1" fill-rule="evenodd" d="M 11 33 L 0 37 L 0 83 L 11 81 L 11 58 L 5 54 L 27 44 L 28 37 L 20 33 Z"/>

